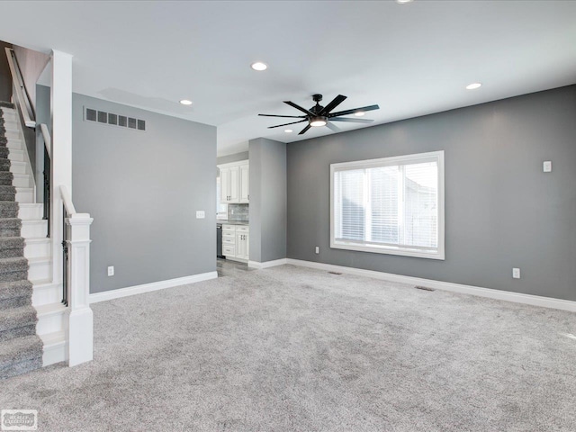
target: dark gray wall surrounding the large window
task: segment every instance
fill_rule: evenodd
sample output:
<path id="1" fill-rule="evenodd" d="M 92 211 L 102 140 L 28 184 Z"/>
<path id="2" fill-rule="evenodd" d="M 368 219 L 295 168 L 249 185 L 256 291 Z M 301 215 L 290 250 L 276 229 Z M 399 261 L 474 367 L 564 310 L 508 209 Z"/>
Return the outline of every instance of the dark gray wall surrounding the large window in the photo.
<path id="1" fill-rule="evenodd" d="M 288 257 L 576 301 L 575 137 L 571 85 L 293 142 Z M 445 150 L 445 261 L 329 248 L 331 163 L 434 150 Z"/>

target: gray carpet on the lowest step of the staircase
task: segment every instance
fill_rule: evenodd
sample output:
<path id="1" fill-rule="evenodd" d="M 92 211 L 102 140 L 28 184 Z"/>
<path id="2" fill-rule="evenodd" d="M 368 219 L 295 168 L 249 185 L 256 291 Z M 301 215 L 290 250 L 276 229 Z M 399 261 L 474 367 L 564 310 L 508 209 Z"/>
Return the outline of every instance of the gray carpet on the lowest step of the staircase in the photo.
<path id="1" fill-rule="evenodd" d="M 42 341 L 36 336 L 15 338 L 0 345 L 0 379 L 42 367 Z"/>

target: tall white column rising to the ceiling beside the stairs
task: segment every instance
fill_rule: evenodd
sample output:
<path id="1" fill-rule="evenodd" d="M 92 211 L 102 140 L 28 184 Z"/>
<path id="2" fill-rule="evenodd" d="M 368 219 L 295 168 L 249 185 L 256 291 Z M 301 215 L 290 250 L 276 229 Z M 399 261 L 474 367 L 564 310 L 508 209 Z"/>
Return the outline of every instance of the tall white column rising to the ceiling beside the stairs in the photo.
<path id="1" fill-rule="evenodd" d="M 72 193 L 72 56 L 52 51 L 52 148 L 50 193 L 50 238 L 52 238 L 52 280 L 62 283 L 62 198 L 58 185 Z"/>

